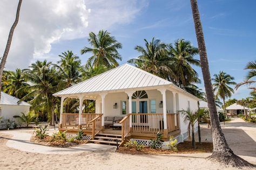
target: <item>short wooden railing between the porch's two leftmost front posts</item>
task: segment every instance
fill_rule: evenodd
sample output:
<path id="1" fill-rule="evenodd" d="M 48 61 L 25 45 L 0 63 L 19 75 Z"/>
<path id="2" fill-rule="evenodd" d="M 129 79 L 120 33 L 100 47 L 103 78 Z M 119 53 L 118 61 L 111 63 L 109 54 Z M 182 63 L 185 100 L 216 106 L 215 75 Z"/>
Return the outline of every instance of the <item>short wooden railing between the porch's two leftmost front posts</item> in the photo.
<path id="1" fill-rule="evenodd" d="M 62 114 L 63 128 L 78 128 L 79 114 Z"/>

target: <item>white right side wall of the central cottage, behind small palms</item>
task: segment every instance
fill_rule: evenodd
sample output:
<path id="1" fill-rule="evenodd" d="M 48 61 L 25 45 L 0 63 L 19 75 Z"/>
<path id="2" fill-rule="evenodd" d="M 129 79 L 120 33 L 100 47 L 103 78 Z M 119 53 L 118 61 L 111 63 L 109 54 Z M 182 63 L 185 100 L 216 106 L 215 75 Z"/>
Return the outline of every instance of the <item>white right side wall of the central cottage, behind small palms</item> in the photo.
<path id="1" fill-rule="evenodd" d="M 197 103 L 196 99 L 194 99 L 190 96 L 179 93 L 179 110 L 182 110 L 182 109 L 186 110 L 188 108 L 188 101 L 190 102 L 190 109 L 192 109 L 193 111 L 198 109 L 198 103 Z M 178 108 L 177 108 L 177 110 L 178 110 Z M 185 124 L 183 120 L 184 120 L 183 116 L 180 115 L 181 134 L 187 132 L 188 123 Z M 198 126 L 198 124 L 196 123 L 194 125 L 194 128 L 197 128 L 197 126 Z"/>

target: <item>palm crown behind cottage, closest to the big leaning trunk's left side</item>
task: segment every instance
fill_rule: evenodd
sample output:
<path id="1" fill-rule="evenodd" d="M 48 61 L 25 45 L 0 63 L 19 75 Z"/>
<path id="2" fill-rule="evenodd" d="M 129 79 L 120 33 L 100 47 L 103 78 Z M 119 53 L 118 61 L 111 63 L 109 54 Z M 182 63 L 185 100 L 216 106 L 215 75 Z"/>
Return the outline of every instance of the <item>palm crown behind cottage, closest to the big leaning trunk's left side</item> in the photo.
<path id="1" fill-rule="evenodd" d="M 170 46 L 169 55 L 172 61 L 173 82 L 179 87 L 200 83 L 198 73 L 191 66 L 200 67 L 200 61 L 194 59 L 197 54 L 198 48 L 193 47 L 190 41 L 184 39 L 178 39 L 174 42 L 174 46 Z"/>

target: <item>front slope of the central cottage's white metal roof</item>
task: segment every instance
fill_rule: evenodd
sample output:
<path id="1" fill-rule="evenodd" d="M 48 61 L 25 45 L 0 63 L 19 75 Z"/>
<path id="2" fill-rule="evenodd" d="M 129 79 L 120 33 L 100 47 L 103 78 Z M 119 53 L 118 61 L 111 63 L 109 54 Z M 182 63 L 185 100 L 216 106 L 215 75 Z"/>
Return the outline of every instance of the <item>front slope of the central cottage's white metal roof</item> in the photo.
<path id="1" fill-rule="evenodd" d="M 127 63 L 66 88 L 54 96 L 173 84 Z"/>

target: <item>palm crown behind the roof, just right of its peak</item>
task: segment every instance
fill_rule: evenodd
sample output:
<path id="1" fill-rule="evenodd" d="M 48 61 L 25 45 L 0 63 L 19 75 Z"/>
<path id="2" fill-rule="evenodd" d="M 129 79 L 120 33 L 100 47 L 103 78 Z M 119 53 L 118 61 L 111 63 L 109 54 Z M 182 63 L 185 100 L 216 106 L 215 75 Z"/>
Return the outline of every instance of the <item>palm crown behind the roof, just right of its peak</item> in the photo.
<path id="1" fill-rule="evenodd" d="M 166 79 L 167 75 L 171 74 L 171 62 L 167 51 L 168 45 L 154 38 L 150 42 L 146 39 L 144 41 L 145 48 L 143 46 L 136 46 L 134 48 L 141 55 L 137 59 L 131 59 L 127 62 L 135 64 L 136 67 L 146 72 Z"/>

